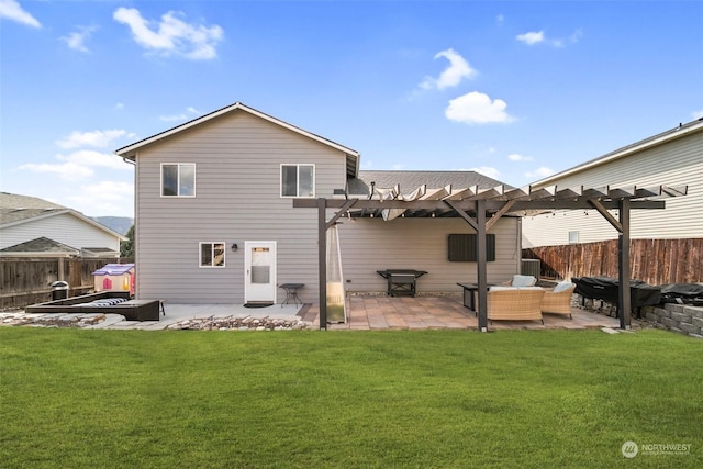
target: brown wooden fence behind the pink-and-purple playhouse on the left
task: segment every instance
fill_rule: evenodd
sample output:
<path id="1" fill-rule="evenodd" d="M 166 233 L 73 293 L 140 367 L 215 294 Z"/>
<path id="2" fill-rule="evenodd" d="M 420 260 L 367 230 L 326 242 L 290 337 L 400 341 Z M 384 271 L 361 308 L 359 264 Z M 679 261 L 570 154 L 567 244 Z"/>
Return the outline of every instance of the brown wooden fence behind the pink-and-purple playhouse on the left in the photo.
<path id="1" fill-rule="evenodd" d="M 0 308 L 24 308 L 52 298 L 51 284 L 68 282 L 68 294 L 75 297 L 93 288 L 92 272 L 105 264 L 126 264 L 131 259 L 112 258 L 4 258 L 0 259 Z"/>

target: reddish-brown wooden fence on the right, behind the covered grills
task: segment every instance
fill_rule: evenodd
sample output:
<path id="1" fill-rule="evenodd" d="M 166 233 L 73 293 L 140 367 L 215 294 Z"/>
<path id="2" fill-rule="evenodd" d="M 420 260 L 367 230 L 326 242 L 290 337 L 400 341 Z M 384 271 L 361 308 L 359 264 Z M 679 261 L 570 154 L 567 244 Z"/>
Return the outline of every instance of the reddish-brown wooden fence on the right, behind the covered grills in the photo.
<path id="1" fill-rule="evenodd" d="M 703 282 L 703 238 L 632 239 L 631 277 L 649 284 Z M 523 249 L 545 278 L 617 278 L 617 239 Z"/>

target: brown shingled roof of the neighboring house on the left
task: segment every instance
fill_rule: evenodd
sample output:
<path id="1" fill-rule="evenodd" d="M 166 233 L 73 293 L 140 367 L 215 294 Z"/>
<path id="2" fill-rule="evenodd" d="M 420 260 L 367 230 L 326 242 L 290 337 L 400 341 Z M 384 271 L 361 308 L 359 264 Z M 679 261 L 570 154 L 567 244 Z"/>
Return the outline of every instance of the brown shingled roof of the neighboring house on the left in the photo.
<path id="1" fill-rule="evenodd" d="M 49 202 L 37 197 L 20 196 L 16 193 L 0 192 L 0 228 L 29 223 L 49 216 L 69 214 L 97 228 L 100 228 L 120 239 L 126 239 L 120 233 L 110 230 L 105 225 L 58 203 Z"/>

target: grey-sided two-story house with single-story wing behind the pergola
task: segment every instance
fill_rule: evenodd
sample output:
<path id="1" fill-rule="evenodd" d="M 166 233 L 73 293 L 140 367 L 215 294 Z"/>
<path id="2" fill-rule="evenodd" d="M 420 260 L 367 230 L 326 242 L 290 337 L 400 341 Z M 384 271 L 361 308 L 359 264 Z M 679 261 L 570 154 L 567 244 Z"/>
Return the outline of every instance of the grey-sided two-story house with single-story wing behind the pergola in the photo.
<path id="1" fill-rule="evenodd" d="M 182 303 L 280 302 L 287 282 L 317 303 L 317 212 L 293 199 L 501 186 L 473 171 L 359 171 L 358 152 L 242 103 L 115 153 L 136 166 L 136 294 Z M 386 291 L 377 270 L 389 268 L 427 271 L 419 292 L 476 281 L 476 263 L 448 259 L 448 235 L 473 233 L 459 217 L 342 222 L 347 291 Z M 520 270 L 520 219 L 503 216 L 491 234 L 488 279 L 498 282 Z"/>

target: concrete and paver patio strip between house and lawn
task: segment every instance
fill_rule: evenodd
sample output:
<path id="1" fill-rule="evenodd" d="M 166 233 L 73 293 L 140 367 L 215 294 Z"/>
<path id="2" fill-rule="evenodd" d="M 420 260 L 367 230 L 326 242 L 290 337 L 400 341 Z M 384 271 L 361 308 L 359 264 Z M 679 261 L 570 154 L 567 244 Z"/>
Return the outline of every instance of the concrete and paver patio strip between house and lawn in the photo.
<path id="1" fill-rule="evenodd" d="M 620 321 L 579 308 L 572 308 L 573 319 L 559 314 L 544 314 L 540 321 L 489 321 L 489 331 L 501 330 L 585 330 L 620 327 Z M 269 319 L 288 322 L 302 320 L 304 328 L 320 328 L 320 309 L 316 304 L 274 304 L 266 308 L 245 308 L 242 304 L 171 304 L 165 303 L 165 315 L 159 321 L 125 321 L 119 314 L 107 317 L 89 328 L 145 330 L 172 328 L 177 323 L 198 320 Z M 94 315 L 94 314 L 90 314 Z M 87 316 L 90 316 L 87 315 Z M 33 316 L 33 317 L 30 317 Z M 43 320 L 40 320 L 43 316 Z M 78 321 L 81 314 L 24 314 L 22 311 L 0 313 L 3 325 L 14 325 L 36 320 Z M 633 327 L 640 325 L 633 320 Z M 328 324 L 330 331 L 382 331 L 382 330 L 478 330 L 473 311 L 462 304 L 460 294 L 387 297 L 386 294 L 350 295 L 347 298 L 347 322 Z"/>

